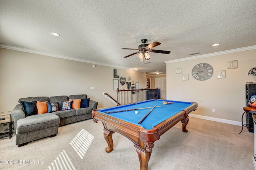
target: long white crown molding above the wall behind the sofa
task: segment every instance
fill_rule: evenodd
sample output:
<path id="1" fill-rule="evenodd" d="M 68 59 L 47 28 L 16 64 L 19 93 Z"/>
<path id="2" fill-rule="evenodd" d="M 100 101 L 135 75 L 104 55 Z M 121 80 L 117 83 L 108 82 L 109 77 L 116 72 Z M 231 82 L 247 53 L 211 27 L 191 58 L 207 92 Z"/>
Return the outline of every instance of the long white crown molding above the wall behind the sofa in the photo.
<path id="1" fill-rule="evenodd" d="M 78 59 L 78 58 L 69 57 L 69 56 L 65 56 L 65 55 L 47 53 L 47 52 L 43 52 L 43 51 L 37 51 L 37 50 L 33 50 L 33 49 L 27 49 L 27 48 L 16 47 L 16 46 L 11 46 L 11 45 L 0 44 L 0 47 L 1 48 L 6 48 L 6 49 L 12 49 L 12 50 L 15 50 L 15 51 L 22 51 L 22 52 L 26 52 L 26 53 L 34 53 L 34 54 L 46 55 L 46 56 L 50 56 L 50 57 L 56 57 L 56 58 L 68 59 L 68 60 L 79 61 L 79 62 L 84 62 L 84 63 L 104 65 L 104 66 L 108 66 L 108 67 L 115 67 L 115 68 L 120 68 L 120 69 L 140 71 L 140 72 L 146 73 L 146 71 L 134 70 L 134 68 L 121 67 L 119 65 L 111 65 L 111 64 L 100 63 L 100 62 L 95 62 L 95 61 L 90 61 L 90 60 L 85 60 L 85 59 Z"/>

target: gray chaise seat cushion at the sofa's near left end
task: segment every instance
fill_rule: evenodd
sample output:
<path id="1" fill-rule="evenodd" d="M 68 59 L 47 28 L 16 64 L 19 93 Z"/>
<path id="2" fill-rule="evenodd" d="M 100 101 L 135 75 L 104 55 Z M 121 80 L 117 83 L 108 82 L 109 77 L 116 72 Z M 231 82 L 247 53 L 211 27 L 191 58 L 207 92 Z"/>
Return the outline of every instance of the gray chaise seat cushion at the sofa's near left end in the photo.
<path id="1" fill-rule="evenodd" d="M 60 118 L 55 114 L 32 115 L 17 121 L 16 133 L 21 134 L 33 130 L 53 127 L 60 124 Z"/>

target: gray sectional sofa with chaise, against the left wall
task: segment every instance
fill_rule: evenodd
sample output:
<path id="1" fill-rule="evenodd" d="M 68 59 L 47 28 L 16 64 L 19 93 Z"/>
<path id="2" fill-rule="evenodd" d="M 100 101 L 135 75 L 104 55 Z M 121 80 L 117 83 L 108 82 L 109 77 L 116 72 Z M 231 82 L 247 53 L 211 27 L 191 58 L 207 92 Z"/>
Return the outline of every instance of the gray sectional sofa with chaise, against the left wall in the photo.
<path id="1" fill-rule="evenodd" d="M 27 97 L 19 99 L 20 104 L 16 105 L 11 114 L 14 120 L 16 145 L 20 147 L 33 140 L 56 136 L 58 127 L 61 125 L 92 118 L 92 110 L 97 109 L 98 102 L 90 100 L 89 107 L 62 111 L 62 102 L 69 101 L 69 99 L 87 99 L 87 95 L 53 96 L 50 98 Z M 59 111 L 26 116 L 22 109 L 21 101 L 58 103 Z"/>

